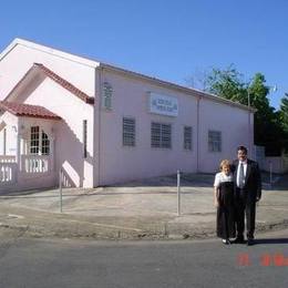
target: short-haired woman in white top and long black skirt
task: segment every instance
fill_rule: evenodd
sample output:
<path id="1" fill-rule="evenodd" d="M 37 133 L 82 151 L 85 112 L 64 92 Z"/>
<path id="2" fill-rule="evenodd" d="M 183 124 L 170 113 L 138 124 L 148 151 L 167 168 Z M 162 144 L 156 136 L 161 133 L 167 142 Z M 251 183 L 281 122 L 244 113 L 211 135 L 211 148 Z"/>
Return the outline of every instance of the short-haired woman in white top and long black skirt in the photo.
<path id="1" fill-rule="evenodd" d="M 216 230 L 224 244 L 235 237 L 234 183 L 228 160 L 220 163 L 220 172 L 215 175 L 214 204 L 217 207 Z"/>

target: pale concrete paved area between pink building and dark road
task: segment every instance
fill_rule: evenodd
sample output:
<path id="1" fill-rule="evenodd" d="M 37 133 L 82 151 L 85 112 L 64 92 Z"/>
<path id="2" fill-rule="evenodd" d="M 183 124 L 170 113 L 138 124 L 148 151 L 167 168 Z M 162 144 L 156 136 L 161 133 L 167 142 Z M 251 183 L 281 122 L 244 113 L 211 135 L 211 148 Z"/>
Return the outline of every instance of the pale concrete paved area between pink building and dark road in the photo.
<path id="1" fill-rule="evenodd" d="M 185 174 L 93 189 L 2 192 L 0 229 L 31 237 L 86 239 L 215 238 L 214 175 Z M 264 175 L 256 237 L 288 227 L 288 175 Z"/>

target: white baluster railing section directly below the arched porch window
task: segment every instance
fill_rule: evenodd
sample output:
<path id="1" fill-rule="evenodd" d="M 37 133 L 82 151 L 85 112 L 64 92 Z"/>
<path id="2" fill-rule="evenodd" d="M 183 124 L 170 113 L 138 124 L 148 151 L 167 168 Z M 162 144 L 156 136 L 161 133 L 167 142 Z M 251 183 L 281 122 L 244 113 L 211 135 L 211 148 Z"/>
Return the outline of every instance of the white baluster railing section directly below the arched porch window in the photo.
<path id="1" fill-rule="evenodd" d="M 21 172 L 31 174 L 48 173 L 50 171 L 50 156 L 21 155 Z"/>

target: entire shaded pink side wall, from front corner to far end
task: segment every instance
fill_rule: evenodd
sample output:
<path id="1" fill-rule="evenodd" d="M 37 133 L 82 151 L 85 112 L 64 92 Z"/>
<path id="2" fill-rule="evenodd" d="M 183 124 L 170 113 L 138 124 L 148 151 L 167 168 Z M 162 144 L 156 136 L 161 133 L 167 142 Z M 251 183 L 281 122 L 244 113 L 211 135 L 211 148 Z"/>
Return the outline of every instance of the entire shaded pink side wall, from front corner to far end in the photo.
<path id="1" fill-rule="evenodd" d="M 172 174 L 177 169 L 215 173 L 222 160 L 236 157 L 238 145 L 248 147 L 248 111 L 246 110 L 200 97 L 199 132 L 197 132 L 196 95 L 107 70 L 102 72 L 100 79 L 101 84 L 106 81 L 113 88 L 112 111 L 101 109 L 100 185 Z M 176 97 L 179 106 L 178 116 L 150 113 L 147 92 Z M 122 145 L 123 116 L 136 120 L 135 147 Z M 172 150 L 151 147 L 152 122 L 172 124 Z M 193 151 L 183 148 L 185 125 L 193 127 Z M 222 132 L 222 152 L 208 152 L 209 130 Z M 197 136 L 199 136 L 198 143 Z"/>

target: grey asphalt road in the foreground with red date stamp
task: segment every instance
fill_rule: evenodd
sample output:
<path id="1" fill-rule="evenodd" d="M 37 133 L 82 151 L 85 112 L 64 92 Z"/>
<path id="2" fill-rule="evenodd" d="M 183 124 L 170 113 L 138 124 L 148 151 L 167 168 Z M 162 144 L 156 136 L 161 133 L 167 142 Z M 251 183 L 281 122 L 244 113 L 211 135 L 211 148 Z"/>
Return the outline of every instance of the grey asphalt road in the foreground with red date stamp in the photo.
<path id="1" fill-rule="evenodd" d="M 247 247 L 218 239 L 29 239 L 0 229 L 0 287 L 288 287 L 287 235 L 261 235 Z M 276 255 L 286 265 L 269 263 Z"/>

